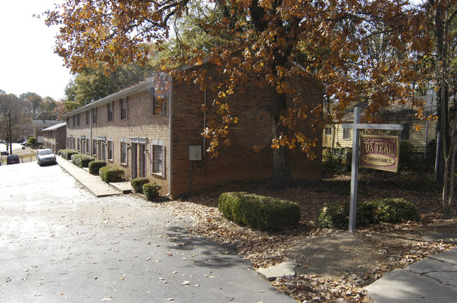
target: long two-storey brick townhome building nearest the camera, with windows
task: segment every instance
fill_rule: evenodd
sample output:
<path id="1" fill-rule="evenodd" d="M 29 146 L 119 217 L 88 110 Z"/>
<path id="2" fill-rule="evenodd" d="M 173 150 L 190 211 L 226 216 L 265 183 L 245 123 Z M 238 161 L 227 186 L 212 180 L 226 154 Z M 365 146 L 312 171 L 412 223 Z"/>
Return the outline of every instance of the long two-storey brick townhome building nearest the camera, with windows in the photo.
<path id="1" fill-rule="evenodd" d="M 199 68 L 204 67 L 194 69 Z M 205 68 L 218 76 L 211 65 Z M 300 81 L 300 86 L 310 105 L 321 102 L 322 86 L 310 80 Z M 231 145 L 221 144 L 219 156 L 212 158 L 201 135 L 207 119 L 202 105 L 210 104 L 216 93 L 156 74 L 65 114 L 67 147 L 121 166 L 129 179 L 146 176 L 162 185 L 162 195 L 174 198 L 234 180 L 268 179 L 270 122 L 259 105 L 270 95 L 266 88 L 247 85 L 227 100 L 236 99 L 231 106 L 238 110 L 239 123 L 231 130 Z M 307 133 L 318 137 L 321 130 Z M 255 145 L 262 147 L 260 152 L 254 151 Z M 318 145 L 315 161 L 302 152 L 290 153 L 292 177 L 321 178 L 321 142 Z"/>

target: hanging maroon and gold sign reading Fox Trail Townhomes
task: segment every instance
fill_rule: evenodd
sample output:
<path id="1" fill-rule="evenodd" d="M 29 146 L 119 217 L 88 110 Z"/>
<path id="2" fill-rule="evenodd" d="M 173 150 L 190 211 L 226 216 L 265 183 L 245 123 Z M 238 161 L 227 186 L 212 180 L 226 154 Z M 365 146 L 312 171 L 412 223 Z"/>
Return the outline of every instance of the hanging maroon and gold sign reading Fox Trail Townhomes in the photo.
<path id="1" fill-rule="evenodd" d="M 361 135 L 360 166 L 397 173 L 399 142 L 398 136 Z"/>

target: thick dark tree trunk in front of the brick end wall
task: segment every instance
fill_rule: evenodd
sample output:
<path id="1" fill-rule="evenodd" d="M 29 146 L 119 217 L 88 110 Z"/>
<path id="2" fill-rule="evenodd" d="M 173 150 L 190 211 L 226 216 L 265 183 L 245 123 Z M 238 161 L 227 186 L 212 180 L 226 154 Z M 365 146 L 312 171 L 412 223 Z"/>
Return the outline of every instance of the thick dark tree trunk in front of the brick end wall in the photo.
<path id="1" fill-rule="evenodd" d="M 287 136 L 288 130 L 281 123 L 280 116 L 287 110 L 285 93 L 276 93 L 273 88 L 273 96 L 270 100 L 271 107 L 271 134 L 273 139 L 280 140 L 281 136 Z M 285 189 L 293 185 L 292 173 L 290 172 L 289 151 L 287 146 L 279 144 L 273 148 L 271 163 L 271 187 L 273 189 Z"/>

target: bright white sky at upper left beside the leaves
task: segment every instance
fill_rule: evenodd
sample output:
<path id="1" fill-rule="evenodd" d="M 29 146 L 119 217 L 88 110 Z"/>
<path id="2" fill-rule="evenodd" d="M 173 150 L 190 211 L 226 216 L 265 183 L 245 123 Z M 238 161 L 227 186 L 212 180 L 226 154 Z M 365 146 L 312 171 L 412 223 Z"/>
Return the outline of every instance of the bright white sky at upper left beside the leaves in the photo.
<path id="1" fill-rule="evenodd" d="M 60 100 L 72 78 L 53 53 L 57 27 L 34 18 L 60 0 L 0 0 L 0 90 Z"/>

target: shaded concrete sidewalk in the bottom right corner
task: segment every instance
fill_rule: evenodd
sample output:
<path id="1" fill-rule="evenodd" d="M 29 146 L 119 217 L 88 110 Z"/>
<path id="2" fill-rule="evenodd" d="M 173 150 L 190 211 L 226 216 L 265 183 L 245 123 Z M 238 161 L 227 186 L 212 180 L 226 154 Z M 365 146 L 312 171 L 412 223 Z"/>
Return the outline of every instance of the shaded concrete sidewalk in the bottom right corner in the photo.
<path id="1" fill-rule="evenodd" d="M 395 269 L 366 290 L 374 303 L 457 302 L 457 248 Z"/>

